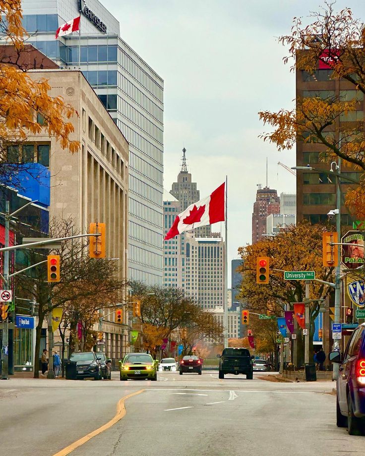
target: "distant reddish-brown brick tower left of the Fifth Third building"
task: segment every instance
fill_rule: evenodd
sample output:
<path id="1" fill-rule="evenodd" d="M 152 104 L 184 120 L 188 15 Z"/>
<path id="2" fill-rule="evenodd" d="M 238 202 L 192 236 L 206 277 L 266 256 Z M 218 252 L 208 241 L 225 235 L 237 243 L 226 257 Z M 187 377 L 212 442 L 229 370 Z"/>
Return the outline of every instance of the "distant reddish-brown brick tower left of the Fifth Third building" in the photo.
<path id="1" fill-rule="evenodd" d="M 280 214 L 280 198 L 278 192 L 272 188 L 257 189 L 256 201 L 253 203 L 252 213 L 252 244 L 261 239 L 266 233 L 266 217 L 269 214 Z"/>

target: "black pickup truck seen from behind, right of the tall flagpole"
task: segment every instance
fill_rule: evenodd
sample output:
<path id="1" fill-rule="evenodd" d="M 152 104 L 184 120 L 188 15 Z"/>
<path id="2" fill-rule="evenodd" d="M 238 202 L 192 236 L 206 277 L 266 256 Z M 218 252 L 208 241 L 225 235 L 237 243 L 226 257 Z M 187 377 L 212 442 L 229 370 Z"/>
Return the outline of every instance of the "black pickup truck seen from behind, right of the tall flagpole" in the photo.
<path id="1" fill-rule="evenodd" d="M 219 378 L 224 378 L 224 374 L 245 374 L 246 379 L 252 380 L 254 358 L 247 348 L 225 348 L 219 360 Z"/>

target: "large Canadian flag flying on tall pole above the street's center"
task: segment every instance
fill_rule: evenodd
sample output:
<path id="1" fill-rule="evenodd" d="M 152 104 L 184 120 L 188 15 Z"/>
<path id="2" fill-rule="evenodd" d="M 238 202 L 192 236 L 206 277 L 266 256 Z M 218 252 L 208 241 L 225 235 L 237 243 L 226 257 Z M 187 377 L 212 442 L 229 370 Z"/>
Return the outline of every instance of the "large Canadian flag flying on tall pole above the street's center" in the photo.
<path id="1" fill-rule="evenodd" d="M 224 218 L 224 191 L 225 183 L 220 185 L 212 194 L 191 204 L 179 214 L 165 240 L 181 234 L 189 229 L 204 227 L 216 222 L 223 222 Z"/>

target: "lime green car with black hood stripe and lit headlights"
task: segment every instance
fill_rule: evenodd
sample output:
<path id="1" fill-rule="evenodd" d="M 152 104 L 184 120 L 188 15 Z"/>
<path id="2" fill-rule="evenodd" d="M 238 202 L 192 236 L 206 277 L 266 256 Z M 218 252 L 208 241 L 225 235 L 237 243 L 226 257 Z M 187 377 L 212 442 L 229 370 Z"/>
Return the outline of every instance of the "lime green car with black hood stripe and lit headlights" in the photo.
<path id="1" fill-rule="evenodd" d="M 121 380 L 148 379 L 157 380 L 158 361 L 148 353 L 127 353 L 119 361 Z"/>

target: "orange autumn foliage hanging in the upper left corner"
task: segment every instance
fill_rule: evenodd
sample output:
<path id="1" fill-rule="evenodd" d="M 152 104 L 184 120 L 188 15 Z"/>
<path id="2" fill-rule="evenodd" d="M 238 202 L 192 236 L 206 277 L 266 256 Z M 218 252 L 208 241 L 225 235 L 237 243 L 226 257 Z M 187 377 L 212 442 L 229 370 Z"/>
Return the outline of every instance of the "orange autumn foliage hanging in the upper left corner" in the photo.
<path id="1" fill-rule="evenodd" d="M 0 0 L 0 16 L 3 48 L 8 45 L 20 54 L 26 38 L 21 24 L 21 0 Z M 69 121 L 77 115 L 75 109 L 61 97 L 49 95 L 51 86 L 46 79 L 36 80 L 21 65 L 9 65 L 3 55 L 0 57 L 0 175 L 14 173 L 23 162 L 19 154 L 12 156 L 9 164 L 7 148 L 26 141 L 29 134 L 46 131 L 60 142 L 62 149 L 77 152 L 79 143 L 71 139 L 74 128 Z"/>

